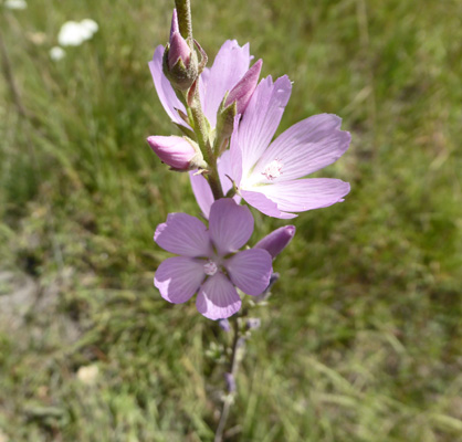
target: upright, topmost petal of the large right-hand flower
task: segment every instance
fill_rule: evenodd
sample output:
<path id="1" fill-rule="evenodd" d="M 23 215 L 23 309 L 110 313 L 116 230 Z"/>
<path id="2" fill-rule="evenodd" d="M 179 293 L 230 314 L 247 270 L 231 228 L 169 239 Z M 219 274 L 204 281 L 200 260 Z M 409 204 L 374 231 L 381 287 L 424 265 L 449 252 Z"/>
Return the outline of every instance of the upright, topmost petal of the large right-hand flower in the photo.
<path id="1" fill-rule="evenodd" d="M 270 145 L 291 96 L 292 84 L 286 75 L 274 83 L 271 76 L 262 80 L 250 99 L 239 130 L 232 135 L 231 150 L 242 151 L 242 175 L 245 179 Z"/>

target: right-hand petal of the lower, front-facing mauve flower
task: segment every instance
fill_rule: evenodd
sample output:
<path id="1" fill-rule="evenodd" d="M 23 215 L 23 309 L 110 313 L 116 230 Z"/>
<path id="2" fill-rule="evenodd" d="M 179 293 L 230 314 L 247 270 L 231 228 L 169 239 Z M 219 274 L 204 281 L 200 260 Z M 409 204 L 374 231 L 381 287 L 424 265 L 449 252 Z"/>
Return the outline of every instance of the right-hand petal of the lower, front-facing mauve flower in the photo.
<path id="1" fill-rule="evenodd" d="M 272 257 L 263 249 L 243 250 L 224 262 L 231 282 L 248 295 L 260 295 L 270 284 Z"/>

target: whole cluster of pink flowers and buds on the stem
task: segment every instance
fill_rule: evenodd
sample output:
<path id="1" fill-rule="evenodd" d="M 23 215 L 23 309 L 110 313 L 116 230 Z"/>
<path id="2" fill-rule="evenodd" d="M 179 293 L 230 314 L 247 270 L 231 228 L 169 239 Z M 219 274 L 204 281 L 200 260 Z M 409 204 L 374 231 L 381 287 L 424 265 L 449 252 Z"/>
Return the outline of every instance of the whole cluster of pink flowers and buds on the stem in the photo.
<path id="1" fill-rule="evenodd" d="M 183 136 L 151 136 L 148 144 L 172 170 L 189 171 L 208 228 L 186 213 L 170 213 L 157 227 L 156 243 L 178 256 L 160 264 L 155 285 L 175 304 L 197 293 L 198 311 L 223 319 L 241 307 L 237 288 L 252 296 L 266 291 L 275 280 L 272 260 L 295 234 L 293 225 L 283 227 L 240 251 L 253 231 L 252 214 L 241 203 L 290 219 L 343 201 L 347 182 L 305 177 L 336 161 L 350 136 L 339 117 L 322 114 L 273 140 L 292 92 L 288 77 L 259 83 L 263 62 L 250 66 L 249 44 L 237 41 L 224 42 L 206 67 L 206 52 L 182 24 L 174 11 L 169 43 L 156 49 L 149 69 Z"/>

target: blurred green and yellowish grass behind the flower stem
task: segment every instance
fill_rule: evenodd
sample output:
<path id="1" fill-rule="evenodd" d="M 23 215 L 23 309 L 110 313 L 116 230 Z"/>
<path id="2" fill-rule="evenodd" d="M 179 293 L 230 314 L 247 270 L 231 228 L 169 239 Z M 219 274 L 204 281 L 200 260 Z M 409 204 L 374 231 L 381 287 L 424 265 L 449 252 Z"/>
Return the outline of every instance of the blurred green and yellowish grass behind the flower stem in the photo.
<path id="1" fill-rule="evenodd" d="M 211 440 L 214 330 L 193 303 L 168 305 L 151 285 L 166 256 L 156 224 L 198 213 L 187 177 L 145 143 L 172 130 L 146 64 L 171 4 L 2 9 L 28 115 L 2 76 L 0 259 L 14 278 L 0 283 L 0 301 L 24 278 L 38 301 L 20 323 L 0 303 L 0 440 Z M 249 41 L 263 75 L 295 82 L 281 130 L 327 112 L 353 134 L 321 173 L 350 181 L 351 193 L 296 219 L 275 263 L 282 280 L 260 311 L 230 440 L 461 440 L 462 3 L 192 9 L 211 60 L 225 39 Z M 84 18 L 99 24 L 94 39 L 51 61 L 61 24 Z M 254 214 L 255 239 L 283 225 Z M 76 373 L 93 365 L 99 375 L 85 385 Z"/>

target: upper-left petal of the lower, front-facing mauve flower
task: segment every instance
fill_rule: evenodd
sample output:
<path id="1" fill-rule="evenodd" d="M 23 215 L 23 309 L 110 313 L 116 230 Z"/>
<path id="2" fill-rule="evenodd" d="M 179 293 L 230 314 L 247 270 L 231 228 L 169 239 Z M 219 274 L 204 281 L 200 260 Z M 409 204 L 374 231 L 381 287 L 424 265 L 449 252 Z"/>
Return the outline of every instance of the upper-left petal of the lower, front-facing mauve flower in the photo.
<path id="1" fill-rule="evenodd" d="M 154 241 L 170 253 L 185 256 L 209 256 L 210 236 L 206 225 L 187 213 L 169 213 L 159 224 Z"/>

